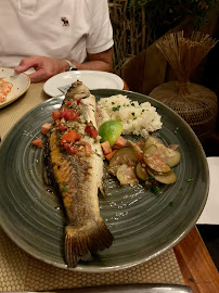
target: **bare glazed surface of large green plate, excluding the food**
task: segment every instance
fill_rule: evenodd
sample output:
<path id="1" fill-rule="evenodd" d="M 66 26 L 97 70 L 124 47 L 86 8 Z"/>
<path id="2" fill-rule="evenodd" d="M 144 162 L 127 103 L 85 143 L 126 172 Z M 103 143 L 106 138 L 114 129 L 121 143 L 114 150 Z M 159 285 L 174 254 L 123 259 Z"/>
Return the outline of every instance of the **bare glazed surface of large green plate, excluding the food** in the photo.
<path id="1" fill-rule="evenodd" d="M 100 99 L 127 94 L 149 101 L 162 115 L 158 131 L 167 143 L 180 145 L 178 180 L 157 195 L 141 186 L 120 188 L 110 182 L 110 194 L 100 200 L 103 218 L 115 237 L 113 245 L 76 270 L 106 271 L 149 260 L 176 245 L 195 225 L 208 194 L 208 167 L 201 143 L 173 111 L 149 97 L 121 90 L 93 90 Z M 43 151 L 31 146 L 41 125 L 51 120 L 62 98 L 43 102 L 28 112 L 8 133 L 0 148 L 0 222 L 24 251 L 48 264 L 66 268 L 64 217 L 54 193 L 43 183 Z M 192 180 L 190 180 L 192 178 Z"/>

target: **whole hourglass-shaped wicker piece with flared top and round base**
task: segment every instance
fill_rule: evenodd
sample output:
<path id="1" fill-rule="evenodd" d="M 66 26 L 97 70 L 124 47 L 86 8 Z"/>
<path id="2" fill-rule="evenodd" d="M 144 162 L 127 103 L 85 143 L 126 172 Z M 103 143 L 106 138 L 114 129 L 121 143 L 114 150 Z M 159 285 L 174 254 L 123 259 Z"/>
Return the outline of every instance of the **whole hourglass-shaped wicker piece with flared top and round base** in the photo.
<path id="1" fill-rule="evenodd" d="M 216 128 L 217 95 L 208 88 L 190 82 L 190 75 L 216 44 L 208 35 L 172 33 L 157 43 L 171 65 L 177 80 L 165 82 L 150 92 L 150 97 L 175 110 L 203 140 Z"/>

